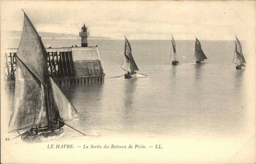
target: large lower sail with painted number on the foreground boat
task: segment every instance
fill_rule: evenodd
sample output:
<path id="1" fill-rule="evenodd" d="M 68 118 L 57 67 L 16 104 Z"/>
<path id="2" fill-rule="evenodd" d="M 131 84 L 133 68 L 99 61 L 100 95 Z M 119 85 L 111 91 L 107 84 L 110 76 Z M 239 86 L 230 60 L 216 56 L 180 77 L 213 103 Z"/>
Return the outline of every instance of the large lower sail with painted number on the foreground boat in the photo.
<path id="1" fill-rule="evenodd" d="M 32 126 L 48 125 L 45 108 L 44 85 L 16 57 L 15 93 L 9 131 L 29 130 Z"/>

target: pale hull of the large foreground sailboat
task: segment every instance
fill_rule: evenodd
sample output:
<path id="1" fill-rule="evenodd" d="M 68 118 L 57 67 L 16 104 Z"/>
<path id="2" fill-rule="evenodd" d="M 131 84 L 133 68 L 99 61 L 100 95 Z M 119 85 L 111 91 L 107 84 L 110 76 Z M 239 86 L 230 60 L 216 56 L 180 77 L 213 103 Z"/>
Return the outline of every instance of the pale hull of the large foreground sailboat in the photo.
<path id="1" fill-rule="evenodd" d="M 54 131 L 42 132 L 34 136 L 21 136 L 23 142 L 33 144 L 38 142 L 47 142 L 50 140 L 58 139 L 64 135 L 64 128 L 60 128 Z"/>

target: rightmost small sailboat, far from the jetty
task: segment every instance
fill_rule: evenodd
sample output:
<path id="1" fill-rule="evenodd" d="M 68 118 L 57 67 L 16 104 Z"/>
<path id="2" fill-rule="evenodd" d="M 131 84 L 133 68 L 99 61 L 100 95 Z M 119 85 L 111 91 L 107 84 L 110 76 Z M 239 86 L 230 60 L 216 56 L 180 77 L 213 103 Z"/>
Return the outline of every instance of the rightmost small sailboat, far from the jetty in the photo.
<path id="1" fill-rule="evenodd" d="M 237 47 L 238 45 L 238 47 Z M 239 48 L 239 50 L 237 49 Z M 244 55 L 242 53 L 242 46 L 240 44 L 240 41 L 237 39 L 236 37 L 236 41 L 235 41 L 235 52 L 234 52 L 234 59 L 233 59 L 233 63 L 237 64 L 236 65 L 236 70 L 238 69 L 242 69 L 242 66 L 245 67 L 245 60 L 244 60 Z"/>

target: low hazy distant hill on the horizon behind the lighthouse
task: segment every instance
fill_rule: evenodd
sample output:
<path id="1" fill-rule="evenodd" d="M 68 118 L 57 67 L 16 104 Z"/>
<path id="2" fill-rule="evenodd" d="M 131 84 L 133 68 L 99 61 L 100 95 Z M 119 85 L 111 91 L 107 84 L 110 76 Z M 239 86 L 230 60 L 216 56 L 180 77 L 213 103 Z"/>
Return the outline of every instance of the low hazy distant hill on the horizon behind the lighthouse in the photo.
<path id="1" fill-rule="evenodd" d="M 8 31 L 7 32 L 9 37 L 21 37 L 22 31 Z M 48 32 L 42 32 L 38 31 L 38 34 L 42 38 L 77 38 L 79 39 L 79 35 L 74 34 L 60 34 L 60 33 L 48 33 Z M 99 38 L 99 39 L 109 39 L 109 37 L 103 37 L 103 36 L 89 36 L 89 38 Z"/>

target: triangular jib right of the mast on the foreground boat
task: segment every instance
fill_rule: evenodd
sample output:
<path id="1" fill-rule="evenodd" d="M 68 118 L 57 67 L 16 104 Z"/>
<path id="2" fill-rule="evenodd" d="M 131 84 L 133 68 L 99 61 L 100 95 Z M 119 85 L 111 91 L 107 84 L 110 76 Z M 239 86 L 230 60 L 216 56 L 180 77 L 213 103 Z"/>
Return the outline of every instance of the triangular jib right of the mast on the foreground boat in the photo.
<path id="1" fill-rule="evenodd" d="M 76 108 L 68 101 L 52 78 L 50 78 L 49 82 L 51 85 L 51 89 L 49 89 L 49 92 L 51 93 L 49 94 L 52 94 L 50 97 L 52 97 L 53 108 L 55 108 L 55 110 L 52 110 L 52 115 L 58 117 L 59 114 L 60 118 L 65 122 L 80 117 L 81 114 L 78 113 Z M 52 117 L 50 120 L 52 119 L 54 118 Z"/>

